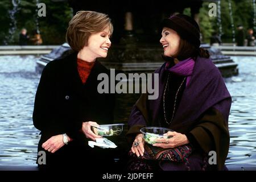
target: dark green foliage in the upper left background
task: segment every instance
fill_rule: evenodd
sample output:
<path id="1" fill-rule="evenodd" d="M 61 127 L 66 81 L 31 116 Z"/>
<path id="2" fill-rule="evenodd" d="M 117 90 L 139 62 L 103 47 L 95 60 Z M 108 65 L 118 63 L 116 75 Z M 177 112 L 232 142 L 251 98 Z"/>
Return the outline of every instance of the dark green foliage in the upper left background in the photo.
<path id="1" fill-rule="evenodd" d="M 18 44 L 19 33 L 22 28 L 26 28 L 28 35 L 32 36 L 36 30 L 36 18 L 39 23 L 39 30 L 43 38 L 43 44 L 62 44 L 65 42 L 65 32 L 68 22 L 72 18 L 72 9 L 67 2 L 54 2 L 51 0 L 40 1 L 46 4 L 46 17 L 39 17 L 37 14 L 38 6 L 36 0 L 20 0 L 18 11 L 15 13 L 16 30 L 13 35 L 9 35 L 9 29 L 13 26 L 10 19 L 10 10 L 13 4 L 10 0 L 1 0 L 0 2 L 0 44 L 12 36 L 14 41 L 8 44 Z M 11 23 L 11 25 L 10 25 Z M 30 42 L 29 44 L 32 44 Z"/>

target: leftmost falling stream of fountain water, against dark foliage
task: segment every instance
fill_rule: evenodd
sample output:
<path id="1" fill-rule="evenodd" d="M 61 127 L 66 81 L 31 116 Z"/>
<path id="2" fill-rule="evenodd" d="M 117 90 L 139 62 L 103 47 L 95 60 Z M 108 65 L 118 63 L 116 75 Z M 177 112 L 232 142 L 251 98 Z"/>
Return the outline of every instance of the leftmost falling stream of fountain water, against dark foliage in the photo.
<path id="1" fill-rule="evenodd" d="M 9 43 L 13 42 L 14 38 L 14 32 L 16 31 L 16 19 L 15 19 L 15 14 L 18 11 L 18 5 L 19 5 L 20 0 L 12 0 L 11 3 L 13 3 L 13 9 L 9 10 L 10 14 L 10 28 L 9 28 L 9 34 L 6 36 L 5 40 L 3 40 L 3 44 L 7 45 Z"/>

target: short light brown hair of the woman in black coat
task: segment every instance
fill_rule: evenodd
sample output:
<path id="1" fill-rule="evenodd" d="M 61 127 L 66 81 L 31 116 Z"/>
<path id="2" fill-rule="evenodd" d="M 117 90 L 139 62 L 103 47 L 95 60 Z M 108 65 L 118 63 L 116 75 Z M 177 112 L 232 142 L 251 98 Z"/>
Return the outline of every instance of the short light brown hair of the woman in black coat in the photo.
<path id="1" fill-rule="evenodd" d="M 68 23 L 66 41 L 73 51 L 80 51 L 88 44 L 92 34 L 103 31 L 106 27 L 113 33 L 113 24 L 108 15 L 95 11 L 78 11 Z"/>

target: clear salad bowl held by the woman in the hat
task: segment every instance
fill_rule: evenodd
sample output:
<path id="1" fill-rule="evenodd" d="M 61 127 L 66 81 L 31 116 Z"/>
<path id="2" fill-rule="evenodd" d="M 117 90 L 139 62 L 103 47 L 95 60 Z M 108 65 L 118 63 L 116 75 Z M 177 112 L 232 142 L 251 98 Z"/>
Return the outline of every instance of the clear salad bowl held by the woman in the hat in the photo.
<path id="1" fill-rule="evenodd" d="M 140 131 L 144 135 L 143 138 L 145 142 L 149 144 L 154 144 L 154 143 L 158 143 L 156 142 L 156 139 L 171 138 L 171 136 L 164 136 L 163 134 L 167 133 L 168 131 L 174 131 L 174 130 L 167 129 L 165 127 L 143 127 Z"/>

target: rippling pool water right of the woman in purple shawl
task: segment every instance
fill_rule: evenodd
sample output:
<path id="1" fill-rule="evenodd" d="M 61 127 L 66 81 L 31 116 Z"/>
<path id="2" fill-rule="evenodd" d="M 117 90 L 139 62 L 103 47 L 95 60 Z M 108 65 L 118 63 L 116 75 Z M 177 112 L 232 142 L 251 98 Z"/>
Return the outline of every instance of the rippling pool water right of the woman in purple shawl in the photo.
<path id="1" fill-rule="evenodd" d="M 256 166 L 256 57 L 232 57 L 239 75 L 226 79 L 232 95 L 229 116 L 230 148 L 226 164 Z"/>

